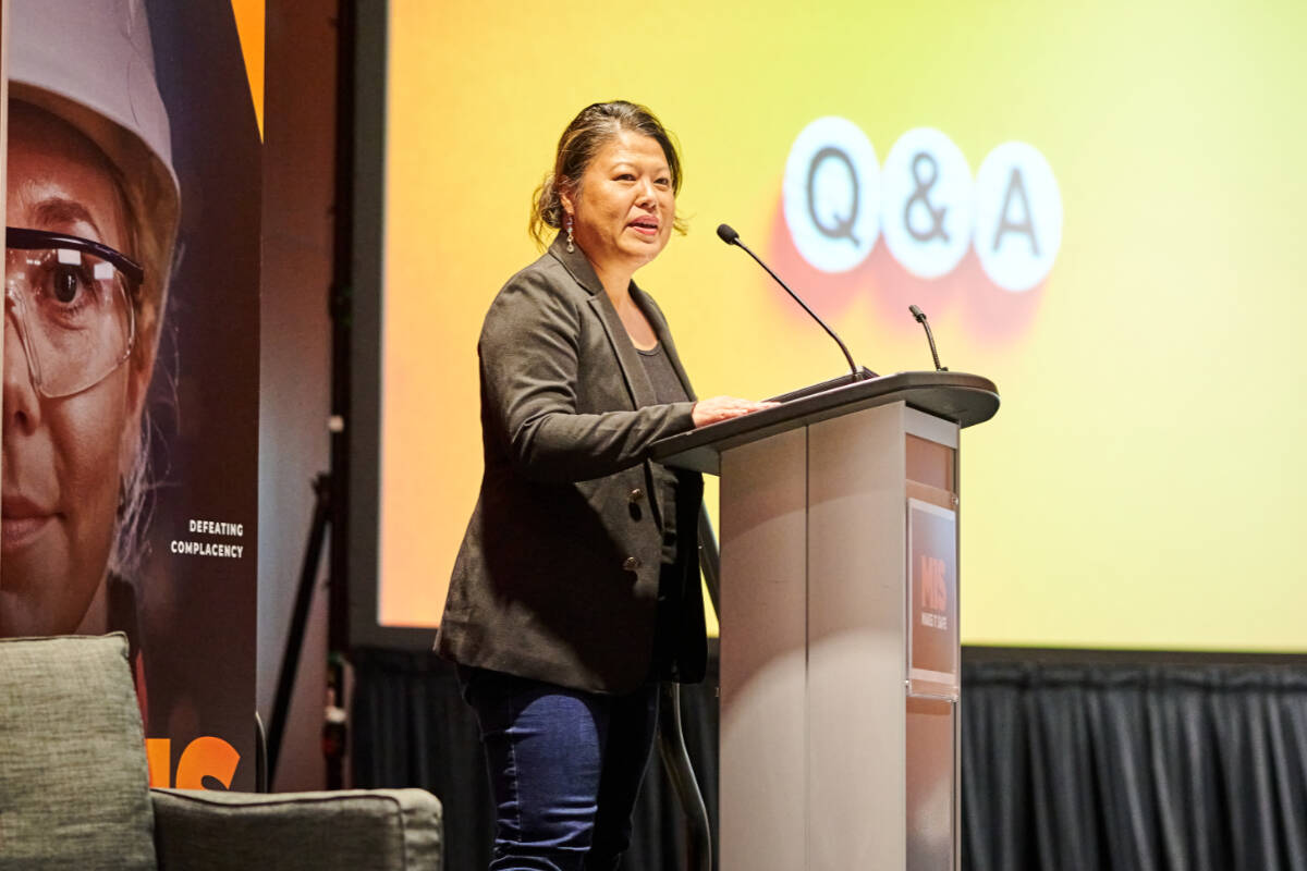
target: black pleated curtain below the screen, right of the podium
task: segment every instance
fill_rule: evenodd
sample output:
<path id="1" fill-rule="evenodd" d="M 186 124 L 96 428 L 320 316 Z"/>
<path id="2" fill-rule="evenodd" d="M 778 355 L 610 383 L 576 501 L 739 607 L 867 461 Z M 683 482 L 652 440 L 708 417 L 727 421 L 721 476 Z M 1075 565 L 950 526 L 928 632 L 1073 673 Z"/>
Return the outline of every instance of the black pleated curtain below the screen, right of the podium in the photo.
<path id="1" fill-rule="evenodd" d="M 1307 667 L 971 662 L 963 868 L 1307 870 Z"/>

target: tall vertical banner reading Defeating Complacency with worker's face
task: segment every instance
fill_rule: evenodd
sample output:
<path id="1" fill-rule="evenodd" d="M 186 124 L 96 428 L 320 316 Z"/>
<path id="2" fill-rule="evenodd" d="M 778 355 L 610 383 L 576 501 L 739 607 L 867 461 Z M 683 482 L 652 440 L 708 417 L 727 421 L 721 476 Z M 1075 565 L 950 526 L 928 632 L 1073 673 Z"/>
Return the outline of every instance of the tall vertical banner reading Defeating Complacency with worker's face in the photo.
<path id="1" fill-rule="evenodd" d="M 154 785 L 251 789 L 261 144 L 226 0 L 12 0 L 0 633 L 123 631 Z"/>

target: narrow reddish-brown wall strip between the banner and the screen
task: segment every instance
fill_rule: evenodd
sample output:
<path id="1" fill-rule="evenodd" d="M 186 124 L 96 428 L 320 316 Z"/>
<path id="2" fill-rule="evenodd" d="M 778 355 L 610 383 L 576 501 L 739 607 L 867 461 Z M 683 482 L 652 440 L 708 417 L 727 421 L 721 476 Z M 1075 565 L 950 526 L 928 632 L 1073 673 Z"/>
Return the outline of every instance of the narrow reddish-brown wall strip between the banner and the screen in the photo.
<path id="1" fill-rule="evenodd" d="M 259 678 L 269 722 L 312 520 L 328 467 L 335 3 L 268 0 L 264 102 L 263 342 L 259 407 Z M 325 554 L 323 555 L 325 567 Z M 274 790 L 323 789 L 325 589 L 305 637 Z"/>

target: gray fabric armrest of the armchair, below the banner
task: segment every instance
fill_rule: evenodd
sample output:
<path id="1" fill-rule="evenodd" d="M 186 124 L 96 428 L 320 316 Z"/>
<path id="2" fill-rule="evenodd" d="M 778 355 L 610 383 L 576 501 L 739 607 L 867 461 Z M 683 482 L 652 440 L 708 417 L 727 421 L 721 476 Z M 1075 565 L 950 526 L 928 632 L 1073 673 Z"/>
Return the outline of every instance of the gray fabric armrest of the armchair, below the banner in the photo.
<path id="1" fill-rule="evenodd" d="M 161 871 L 440 870 L 440 802 L 420 789 L 150 798 Z"/>

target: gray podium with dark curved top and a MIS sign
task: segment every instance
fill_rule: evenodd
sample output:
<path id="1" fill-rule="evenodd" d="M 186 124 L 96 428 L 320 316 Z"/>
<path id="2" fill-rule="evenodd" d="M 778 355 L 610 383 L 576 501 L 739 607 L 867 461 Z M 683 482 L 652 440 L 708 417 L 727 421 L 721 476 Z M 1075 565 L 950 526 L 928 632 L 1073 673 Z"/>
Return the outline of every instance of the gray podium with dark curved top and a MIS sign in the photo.
<path id="1" fill-rule="evenodd" d="M 720 867 L 955 870 L 958 435 L 997 388 L 778 398 L 652 452 L 721 477 Z"/>

